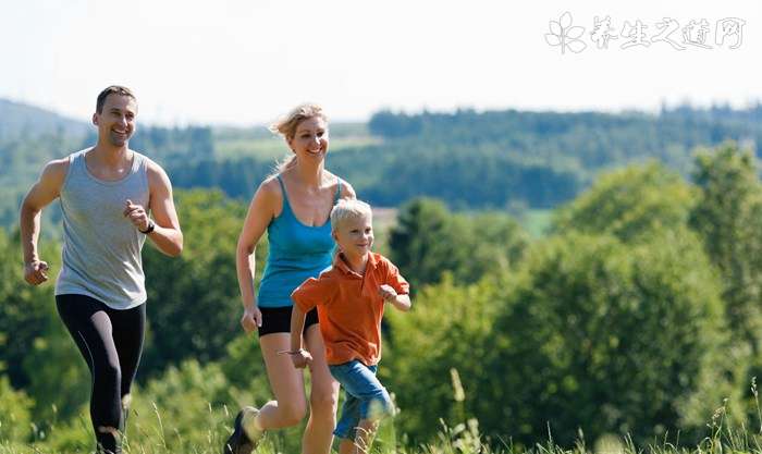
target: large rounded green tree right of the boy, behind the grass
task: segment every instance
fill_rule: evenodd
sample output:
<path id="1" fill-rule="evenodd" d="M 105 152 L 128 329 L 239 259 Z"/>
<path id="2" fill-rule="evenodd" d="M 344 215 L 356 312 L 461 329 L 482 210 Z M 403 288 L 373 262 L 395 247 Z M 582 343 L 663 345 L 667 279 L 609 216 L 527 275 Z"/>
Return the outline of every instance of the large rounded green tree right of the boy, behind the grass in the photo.
<path id="1" fill-rule="evenodd" d="M 550 428 L 643 442 L 666 431 L 698 440 L 724 397 L 729 351 L 721 284 L 690 231 L 626 245 L 569 234 L 538 245 L 496 304 L 481 372 L 480 422 L 531 443 Z M 499 403 L 499 404 L 497 404 Z"/>

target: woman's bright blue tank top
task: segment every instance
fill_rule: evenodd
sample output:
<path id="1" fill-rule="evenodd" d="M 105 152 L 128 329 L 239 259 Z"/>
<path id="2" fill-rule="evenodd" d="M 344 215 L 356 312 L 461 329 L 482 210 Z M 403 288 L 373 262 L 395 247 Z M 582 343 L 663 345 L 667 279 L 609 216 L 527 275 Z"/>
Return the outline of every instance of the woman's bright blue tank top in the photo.
<path id="1" fill-rule="evenodd" d="M 291 306 L 291 293 L 308 278 L 317 278 L 330 267 L 336 247 L 331 236 L 331 219 L 320 226 L 303 224 L 291 209 L 281 175 L 278 175 L 278 183 L 283 192 L 283 210 L 267 228 L 270 251 L 257 297 L 261 307 Z M 334 205 L 339 201 L 341 185 L 339 180 Z"/>

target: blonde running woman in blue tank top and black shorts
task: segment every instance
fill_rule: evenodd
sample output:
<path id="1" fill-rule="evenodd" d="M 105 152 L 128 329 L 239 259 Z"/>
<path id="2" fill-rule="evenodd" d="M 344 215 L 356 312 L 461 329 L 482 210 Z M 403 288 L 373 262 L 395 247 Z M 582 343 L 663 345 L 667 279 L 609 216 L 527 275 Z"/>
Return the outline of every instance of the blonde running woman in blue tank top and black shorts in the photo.
<path id="1" fill-rule="evenodd" d="M 307 412 L 304 377 L 288 355 L 291 293 L 307 278 L 331 265 L 331 208 L 355 192 L 324 169 L 328 119 L 319 106 L 303 105 L 271 131 L 285 138 L 293 156 L 262 182 L 251 199 L 238 237 L 236 266 L 244 304 L 241 324 L 258 331 L 274 400 L 261 408 L 245 407 L 223 452 L 248 454 L 266 430 L 298 424 Z M 270 242 L 265 274 L 255 297 L 254 251 L 267 230 Z M 302 440 L 304 454 L 328 454 L 333 441 L 339 383 L 325 361 L 317 312 L 307 315 L 304 340 L 315 358 L 310 367 L 309 421 Z"/>

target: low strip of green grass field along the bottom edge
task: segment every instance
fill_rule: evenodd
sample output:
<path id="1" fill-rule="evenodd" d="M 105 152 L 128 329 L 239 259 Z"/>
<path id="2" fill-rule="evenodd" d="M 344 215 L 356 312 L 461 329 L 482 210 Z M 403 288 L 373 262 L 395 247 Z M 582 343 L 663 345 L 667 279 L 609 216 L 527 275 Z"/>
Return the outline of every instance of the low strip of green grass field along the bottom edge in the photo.
<path id="1" fill-rule="evenodd" d="M 229 416 L 229 415 L 228 415 Z M 715 415 L 716 416 L 716 415 Z M 89 431 L 85 428 L 84 415 L 81 418 L 82 429 L 76 437 L 79 441 L 69 441 L 65 449 L 51 449 L 47 443 L 35 444 L 10 443 L 0 440 L 0 454 L 84 454 L 91 453 L 89 449 Z M 441 422 L 441 421 L 440 421 Z M 177 431 L 162 421 L 158 413 L 147 417 L 133 427 L 132 433 L 125 437 L 125 454 L 211 454 L 220 453 L 222 443 L 230 433 L 230 427 L 219 424 L 211 427 L 199 427 L 204 432 L 204 441 L 188 444 Z M 603 435 L 592 444 L 585 440 L 583 434 L 570 446 L 555 444 L 551 438 L 539 441 L 531 446 L 519 446 L 511 440 L 490 440 L 479 433 L 475 419 L 446 427 L 429 443 L 403 446 L 397 440 L 392 421 L 383 422 L 373 442 L 371 452 L 374 454 L 761 454 L 762 433 L 752 433 L 746 428 L 727 425 L 722 416 L 708 425 L 709 435 L 695 445 L 680 445 L 666 440 L 654 440 L 642 446 L 636 446 L 628 437 Z M 137 434 L 135 434 L 137 432 Z M 292 431 L 292 435 L 295 432 Z M 255 451 L 258 454 L 297 454 L 298 450 L 284 447 L 282 433 L 268 433 Z M 337 443 L 334 442 L 334 446 Z M 336 452 L 335 450 L 332 452 Z"/>

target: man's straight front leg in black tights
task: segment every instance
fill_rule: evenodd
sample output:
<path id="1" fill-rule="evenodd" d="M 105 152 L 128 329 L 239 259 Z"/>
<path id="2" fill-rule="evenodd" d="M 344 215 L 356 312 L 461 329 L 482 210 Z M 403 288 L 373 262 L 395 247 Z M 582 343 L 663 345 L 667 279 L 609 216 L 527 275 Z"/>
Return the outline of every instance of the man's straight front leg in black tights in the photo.
<path id="1" fill-rule="evenodd" d="M 122 371 L 107 308 L 84 295 L 58 295 L 56 303 L 61 319 L 90 368 L 90 418 L 99 450 L 121 453 L 118 427 L 122 418 Z"/>

